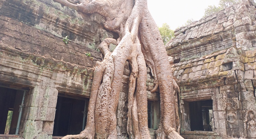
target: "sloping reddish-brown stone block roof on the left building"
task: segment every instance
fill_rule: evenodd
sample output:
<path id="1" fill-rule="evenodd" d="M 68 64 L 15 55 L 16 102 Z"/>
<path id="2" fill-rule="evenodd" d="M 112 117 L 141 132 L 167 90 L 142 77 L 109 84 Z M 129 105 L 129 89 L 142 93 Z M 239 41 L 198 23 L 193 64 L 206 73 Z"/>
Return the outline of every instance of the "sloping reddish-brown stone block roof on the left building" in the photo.
<path id="1" fill-rule="evenodd" d="M 1 16 L 0 20 L 1 19 L 4 19 L 4 17 Z M 21 50 L 23 52 L 30 52 L 36 55 L 55 58 L 57 60 L 64 60 L 70 63 L 76 63 L 90 67 L 92 65 L 92 61 L 87 56 L 85 56 L 84 53 L 91 52 L 91 56 L 95 60 L 101 59 L 100 54 L 97 54 L 96 51 L 92 52 L 93 50 L 84 48 L 72 42 L 70 42 L 72 47 L 69 44 L 65 45 L 61 38 L 49 35 L 49 33 L 44 31 L 34 29 L 33 27 L 30 27 L 24 23 L 18 23 L 17 21 L 15 24 L 11 23 L 12 21 L 14 20 L 3 21 L 4 26 L 0 28 L 1 35 L 5 35 L 4 37 L 1 37 L 0 41 L 2 41 L 3 44 L 6 42 L 6 44 L 8 44 L 10 47 Z M 23 32 L 23 30 L 26 32 Z M 55 55 L 57 51 L 59 53 L 58 55 Z M 70 59 L 70 57 L 67 58 L 67 55 L 70 55 L 72 59 Z"/>

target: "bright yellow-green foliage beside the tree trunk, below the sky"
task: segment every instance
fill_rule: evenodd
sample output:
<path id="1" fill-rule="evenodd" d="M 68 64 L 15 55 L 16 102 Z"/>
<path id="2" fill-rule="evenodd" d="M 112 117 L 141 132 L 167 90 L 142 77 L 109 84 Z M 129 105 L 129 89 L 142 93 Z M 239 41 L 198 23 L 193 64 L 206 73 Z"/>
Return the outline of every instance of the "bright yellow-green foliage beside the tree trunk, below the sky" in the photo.
<path id="1" fill-rule="evenodd" d="M 172 38 L 174 38 L 174 31 L 170 29 L 167 23 L 163 23 L 161 27 L 158 27 L 160 34 L 162 36 L 163 42 L 166 45 Z"/>

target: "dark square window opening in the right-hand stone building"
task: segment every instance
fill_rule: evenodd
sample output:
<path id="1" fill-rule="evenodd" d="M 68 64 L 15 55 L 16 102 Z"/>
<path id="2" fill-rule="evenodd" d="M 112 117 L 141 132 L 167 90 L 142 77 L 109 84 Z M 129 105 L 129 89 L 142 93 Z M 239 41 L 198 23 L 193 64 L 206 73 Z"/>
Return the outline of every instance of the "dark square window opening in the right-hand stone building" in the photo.
<path id="1" fill-rule="evenodd" d="M 191 131 L 212 131 L 212 100 L 189 103 Z"/>

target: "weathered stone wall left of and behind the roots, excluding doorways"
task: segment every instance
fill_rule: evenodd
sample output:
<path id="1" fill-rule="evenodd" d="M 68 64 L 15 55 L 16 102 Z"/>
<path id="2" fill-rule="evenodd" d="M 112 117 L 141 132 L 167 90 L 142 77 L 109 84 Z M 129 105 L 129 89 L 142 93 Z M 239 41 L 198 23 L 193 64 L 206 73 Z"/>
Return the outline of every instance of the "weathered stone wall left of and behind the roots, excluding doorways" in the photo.
<path id="1" fill-rule="evenodd" d="M 106 37 L 118 37 L 104 30 L 104 22 L 98 14 L 84 15 L 53 0 L 0 0 L 0 87 L 26 91 L 20 138 L 53 138 L 58 96 L 90 97 L 93 68 L 102 61 L 97 46 Z M 65 36 L 68 44 L 62 40 Z M 119 138 L 127 138 L 128 62 L 123 74 Z M 148 99 L 154 102 L 156 129 L 160 103 L 159 93 L 150 92 L 154 85 L 148 69 Z M 154 137 L 154 131 L 151 134 Z"/>

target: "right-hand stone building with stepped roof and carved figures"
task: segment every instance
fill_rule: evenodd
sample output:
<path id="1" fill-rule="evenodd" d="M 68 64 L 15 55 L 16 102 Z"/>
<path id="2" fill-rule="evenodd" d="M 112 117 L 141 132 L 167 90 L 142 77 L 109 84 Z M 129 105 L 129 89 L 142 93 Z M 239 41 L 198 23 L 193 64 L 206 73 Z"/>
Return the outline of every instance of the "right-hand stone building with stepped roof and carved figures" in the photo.
<path id="1" fill-rule="evenodd" d="M 255 13 L 255 3 L 244 0 L 175 30 L 167 44 L 185 138 L 256 137 Z M 190 102 L 203 100 L 213 103 L 213 132 L 191 131 Z"/>

